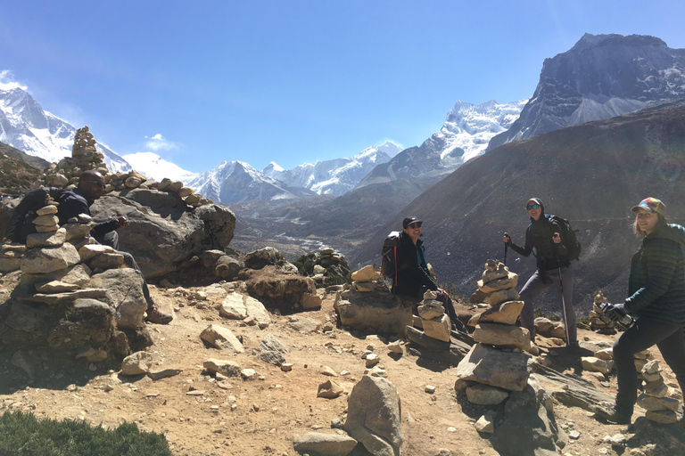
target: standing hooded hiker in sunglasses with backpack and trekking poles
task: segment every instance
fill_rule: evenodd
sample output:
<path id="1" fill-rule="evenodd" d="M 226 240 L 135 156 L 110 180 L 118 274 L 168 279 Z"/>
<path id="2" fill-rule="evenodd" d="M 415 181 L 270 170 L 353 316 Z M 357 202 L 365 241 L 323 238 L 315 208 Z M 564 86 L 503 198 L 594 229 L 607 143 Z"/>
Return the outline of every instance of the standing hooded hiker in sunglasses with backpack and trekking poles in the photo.
<path id="1" fill-rule="evenodd" d="M 505 255 L 511 247 L 516 253 L 537 258 L 537 271 L 521 289 L 521 300 L 524 309 L 521 311 L 521 322 L 531 333 L 535 342 L 535 321 L 532 303 L 535 298 L 552 285 L 557 288 L 566 330 L 566 346 L 578 346 L 575 312 L 573 304 L 574 270 L 571 260 L 580 254 L 580 244 L 575 240 L 574 232 L 568 222 L 557 216 L 545 214 L 545 208 L 539 198 L 531 198 L 525 203 L 531 224 L 525 230 L 523 248 L 512 242 L 507 232 L 504 233 Z"/>

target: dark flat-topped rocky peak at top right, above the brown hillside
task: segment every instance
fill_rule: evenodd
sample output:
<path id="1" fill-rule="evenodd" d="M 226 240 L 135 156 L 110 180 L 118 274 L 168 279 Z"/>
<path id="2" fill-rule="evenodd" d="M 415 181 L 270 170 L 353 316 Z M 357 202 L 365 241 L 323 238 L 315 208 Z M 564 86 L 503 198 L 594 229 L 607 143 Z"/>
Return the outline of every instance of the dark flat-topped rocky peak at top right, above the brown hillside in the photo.
<path id="1" fill-rule="evenodd" d="M 621 116 L 685 96 L 685 49 L 656 37 L 585 34 L 546 59 L 521 117 L 488 150 L 564 126 Z"/>

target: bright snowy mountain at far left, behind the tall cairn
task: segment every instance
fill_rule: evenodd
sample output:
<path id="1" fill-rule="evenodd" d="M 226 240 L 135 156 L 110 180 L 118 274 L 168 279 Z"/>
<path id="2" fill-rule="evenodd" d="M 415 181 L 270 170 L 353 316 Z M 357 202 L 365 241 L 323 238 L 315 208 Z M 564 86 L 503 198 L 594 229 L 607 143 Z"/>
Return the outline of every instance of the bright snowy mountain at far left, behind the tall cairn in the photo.
<path id="1" fill-rule="evenodd" d="M 29 92 L 19 87 L 0 89 L 0 142 L 54 162 L 71 156 L 76 130 L 61 118 L 43 110 Z M 98 142 L 95 147 L 104 154 L 104 162 L 110 171 L 131 169 L 125 159 L 104 144 Z"/>

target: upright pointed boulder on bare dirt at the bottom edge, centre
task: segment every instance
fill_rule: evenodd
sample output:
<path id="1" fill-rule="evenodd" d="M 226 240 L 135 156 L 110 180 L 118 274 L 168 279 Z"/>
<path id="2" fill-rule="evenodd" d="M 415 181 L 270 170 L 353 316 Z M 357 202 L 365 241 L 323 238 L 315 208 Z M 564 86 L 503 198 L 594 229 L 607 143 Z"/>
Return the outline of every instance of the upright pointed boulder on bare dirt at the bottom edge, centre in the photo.
<path id="1" fill-rule="evenodd" d="M 345 430 L 376 456 L 400 456 L 400 395 L 387 379 L 362 377 L 347 400 Z"/>

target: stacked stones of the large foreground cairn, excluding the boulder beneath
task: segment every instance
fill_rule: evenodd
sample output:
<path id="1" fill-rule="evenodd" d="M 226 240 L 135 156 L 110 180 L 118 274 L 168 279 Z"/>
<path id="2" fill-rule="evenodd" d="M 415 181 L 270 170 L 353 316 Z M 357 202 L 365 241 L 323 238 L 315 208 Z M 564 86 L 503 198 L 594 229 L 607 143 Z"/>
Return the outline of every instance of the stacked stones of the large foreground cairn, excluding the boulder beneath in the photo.
<path id="1" fill-rule="evenodd" d="M 478 289 L 483 304 L 488 307 L 468 322 L 475 326 L 475 345 L 457 366 L 455 389 L 466 389 L 469 402 L 494 405 L 508 398 L 511 391 L 522 391 L 528 384 L 533 351 L 530 332 L 516 326 L 524 308 L 516 300 L 514 287 L 518 276 L 497 260 L 485 264 Z"/>

